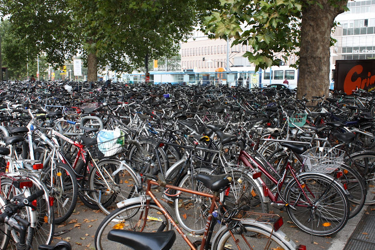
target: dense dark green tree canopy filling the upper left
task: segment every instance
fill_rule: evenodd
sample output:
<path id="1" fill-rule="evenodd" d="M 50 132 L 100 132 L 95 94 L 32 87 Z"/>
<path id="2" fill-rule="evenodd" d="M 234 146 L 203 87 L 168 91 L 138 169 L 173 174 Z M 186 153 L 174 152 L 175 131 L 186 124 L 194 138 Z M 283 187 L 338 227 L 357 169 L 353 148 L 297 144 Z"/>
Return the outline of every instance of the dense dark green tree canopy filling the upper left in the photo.
<path id="1" fill-rule="evenodd" d="M 81 53 L 93 67 L 132 71 L 171 57 L 218 0 L 0 0 L 0 11 L 35 56 L 51 64 Z M 90 74 L 90 67 L 89 67 Z M 96 70 L 91 72 L 96 78 Z"/>

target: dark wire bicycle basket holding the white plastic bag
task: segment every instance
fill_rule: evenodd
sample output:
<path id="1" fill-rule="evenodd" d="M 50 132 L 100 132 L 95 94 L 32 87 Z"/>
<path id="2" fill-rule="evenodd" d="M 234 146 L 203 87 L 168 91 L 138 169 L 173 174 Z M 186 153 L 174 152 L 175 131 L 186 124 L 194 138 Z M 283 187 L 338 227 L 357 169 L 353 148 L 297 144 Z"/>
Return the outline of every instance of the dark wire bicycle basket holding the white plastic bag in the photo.
<path id="1" fill-rule="evenodd" d="M 94 159 L 103 159 L 125 151 L 126 140 L 124 136 L 114 138 L 103 143 L 93 143 L 87 146 Z"/>

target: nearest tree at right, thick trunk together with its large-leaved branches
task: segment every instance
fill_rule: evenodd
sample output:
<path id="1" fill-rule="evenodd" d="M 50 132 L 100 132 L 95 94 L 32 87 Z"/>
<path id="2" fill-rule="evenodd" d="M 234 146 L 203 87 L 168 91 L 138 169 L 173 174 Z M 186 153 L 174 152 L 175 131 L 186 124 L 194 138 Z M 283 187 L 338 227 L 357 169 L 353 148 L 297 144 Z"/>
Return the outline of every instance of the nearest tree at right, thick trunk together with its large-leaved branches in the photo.
<path id="1" fill-rule="evenodd" d="M 328 95 L 331 30 L 348 0 L 221 0 L 205 18 L 206 33 L 248 44 L 245 57 L 257 68 L 299 56 L 298 97 Z"/>

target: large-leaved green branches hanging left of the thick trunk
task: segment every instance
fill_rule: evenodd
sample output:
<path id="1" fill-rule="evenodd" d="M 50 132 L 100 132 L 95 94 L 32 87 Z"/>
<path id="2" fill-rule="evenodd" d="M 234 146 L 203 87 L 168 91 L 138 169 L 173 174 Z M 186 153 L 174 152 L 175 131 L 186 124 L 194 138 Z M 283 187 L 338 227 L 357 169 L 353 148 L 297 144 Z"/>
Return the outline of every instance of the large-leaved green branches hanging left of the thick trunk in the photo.
<path id="1" fill-rule="evenodd" d="M 215 38 L 234 38 L 235 44 L 247 44 L 251 63 L 265 69 L 279 65 L 299 46 L 300 0 L 221 0 L 221 9 L 205 17 L 206 34 Z"/>

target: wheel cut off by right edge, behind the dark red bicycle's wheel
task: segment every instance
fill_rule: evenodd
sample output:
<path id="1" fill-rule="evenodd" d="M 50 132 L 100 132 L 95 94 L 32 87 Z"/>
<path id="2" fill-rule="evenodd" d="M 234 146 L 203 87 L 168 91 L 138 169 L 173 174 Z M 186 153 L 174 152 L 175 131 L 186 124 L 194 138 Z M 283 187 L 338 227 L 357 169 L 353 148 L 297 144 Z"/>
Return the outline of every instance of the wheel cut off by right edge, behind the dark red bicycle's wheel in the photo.
<path id="1" fill-rule="evenodd" d="M 365 205 L 375 204 L 375 154 L 372 152 L 354 153 L 345 158 L 345 165 L 357 170 L 366 182 Z"/>

